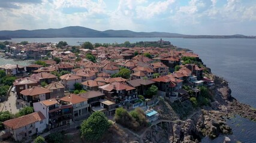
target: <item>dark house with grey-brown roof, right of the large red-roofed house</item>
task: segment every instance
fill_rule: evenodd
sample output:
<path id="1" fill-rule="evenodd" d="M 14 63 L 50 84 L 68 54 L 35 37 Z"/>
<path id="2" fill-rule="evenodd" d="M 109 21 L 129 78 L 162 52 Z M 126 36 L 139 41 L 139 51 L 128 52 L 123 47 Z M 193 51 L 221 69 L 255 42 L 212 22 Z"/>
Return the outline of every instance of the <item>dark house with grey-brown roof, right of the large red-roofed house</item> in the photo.
<path id="1" fill-rule="evenodd" d="M 134 79 L 128 80 L 127 83 L 129 86 L 137 89 L 138 95 L 145 95 L 147 89 L 149 89 L 155 82 L 147 79 Z"/>

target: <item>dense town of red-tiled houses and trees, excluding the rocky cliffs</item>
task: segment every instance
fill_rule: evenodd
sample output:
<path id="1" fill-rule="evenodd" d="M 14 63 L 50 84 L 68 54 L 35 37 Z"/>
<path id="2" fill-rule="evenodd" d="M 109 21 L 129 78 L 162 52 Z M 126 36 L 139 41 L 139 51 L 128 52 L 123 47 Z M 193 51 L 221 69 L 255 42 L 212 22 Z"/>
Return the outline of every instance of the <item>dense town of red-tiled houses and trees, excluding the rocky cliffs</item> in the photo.
<path id="1" fill-rule="evenodd" d="M 94 113 L 137 132 L 161 119 L 155 108 L 161 100 L 209 104 L 203 94 L 214 83 L 200 57 L 162 39 L 155 43 L 165 46 L 7 43 L 5 57 L 37 61 L 0 66 L 0 139 L 31 142 L 32 136 L 77 130 Z"/>

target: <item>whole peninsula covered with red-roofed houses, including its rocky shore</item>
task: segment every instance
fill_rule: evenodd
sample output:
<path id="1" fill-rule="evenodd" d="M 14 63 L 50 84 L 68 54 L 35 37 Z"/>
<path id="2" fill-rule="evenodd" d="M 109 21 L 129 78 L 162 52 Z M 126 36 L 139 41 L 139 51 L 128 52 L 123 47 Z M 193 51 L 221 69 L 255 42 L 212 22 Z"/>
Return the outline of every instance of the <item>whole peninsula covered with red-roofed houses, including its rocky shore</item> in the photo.
<path id="1" fill-rule="evenodd" d="M 199 55 L 162 39 L 5 48 L 37 61 L 0 66 L 4 141 L 201 142 L 231 134 L 230 117 L 256 119 Z"/>

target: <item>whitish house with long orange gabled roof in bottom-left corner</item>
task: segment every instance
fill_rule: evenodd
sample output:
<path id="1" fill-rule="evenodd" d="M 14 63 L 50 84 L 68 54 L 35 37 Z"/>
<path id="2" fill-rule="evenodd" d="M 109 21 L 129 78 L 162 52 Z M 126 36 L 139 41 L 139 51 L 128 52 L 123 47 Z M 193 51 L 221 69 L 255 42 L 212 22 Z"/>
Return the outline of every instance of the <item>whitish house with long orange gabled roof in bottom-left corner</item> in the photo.
<path id="1" fill-rule="evenodd" d="M 4 127 L 17 142 L 26 141 L 32 135 L 46 129 L 46 117 L 40 112 L 34 112 L 3 122 Z"/>

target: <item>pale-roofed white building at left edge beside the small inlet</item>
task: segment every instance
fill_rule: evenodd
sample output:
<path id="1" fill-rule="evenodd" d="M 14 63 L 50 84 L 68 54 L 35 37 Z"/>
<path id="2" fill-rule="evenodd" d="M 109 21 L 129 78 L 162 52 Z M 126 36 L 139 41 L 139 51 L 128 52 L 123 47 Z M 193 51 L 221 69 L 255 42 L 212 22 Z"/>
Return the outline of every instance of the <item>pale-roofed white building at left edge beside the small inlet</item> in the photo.
<path id="1" fill-rule="evenodd" d="M 18 64 L 5 64 L 0 66 L 0 70 L 4 70 L 7 75 L 26 73 L 25 67 Z"/>

